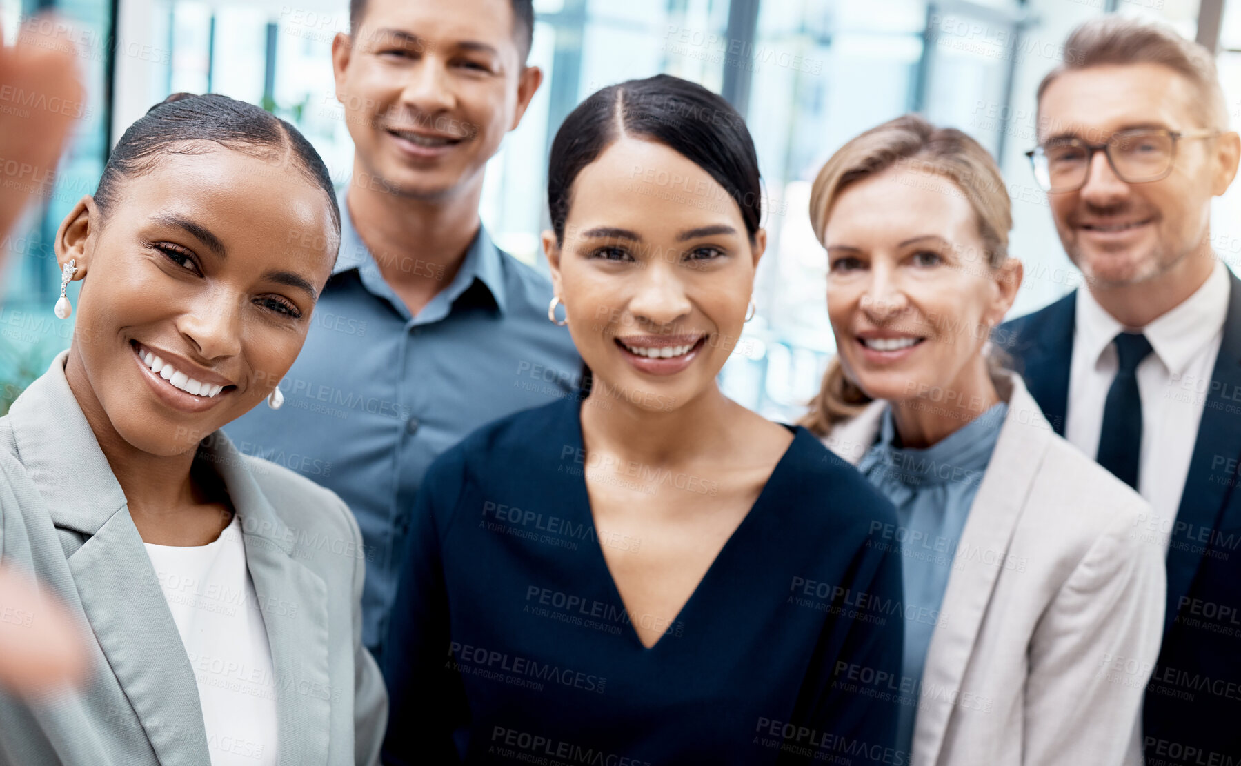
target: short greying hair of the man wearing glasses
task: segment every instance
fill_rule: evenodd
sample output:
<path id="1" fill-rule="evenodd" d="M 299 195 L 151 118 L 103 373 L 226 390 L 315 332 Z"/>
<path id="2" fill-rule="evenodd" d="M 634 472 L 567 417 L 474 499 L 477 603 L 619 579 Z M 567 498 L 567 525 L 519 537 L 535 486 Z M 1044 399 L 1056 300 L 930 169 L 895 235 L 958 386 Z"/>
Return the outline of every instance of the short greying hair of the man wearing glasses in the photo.
<path id="1" fill-rule="evenodd" d="M 1143 63 L 1168 67 L 1188 79 L 1198 90 L 1193 110 L 1195 117 L 1203 119 L 1203 126 L 1227 129 L 1227 102 L 1211 52 L 1164 24 L 1114 14 L 1091 19 L 1069 35 L 1060 66 L 1047 72 L 1039 83 L 1037 100 L 1042 103 L 1047 87 L 1065 72 Z"/>

